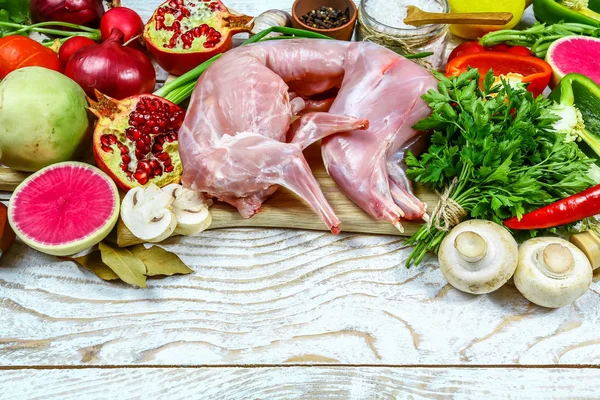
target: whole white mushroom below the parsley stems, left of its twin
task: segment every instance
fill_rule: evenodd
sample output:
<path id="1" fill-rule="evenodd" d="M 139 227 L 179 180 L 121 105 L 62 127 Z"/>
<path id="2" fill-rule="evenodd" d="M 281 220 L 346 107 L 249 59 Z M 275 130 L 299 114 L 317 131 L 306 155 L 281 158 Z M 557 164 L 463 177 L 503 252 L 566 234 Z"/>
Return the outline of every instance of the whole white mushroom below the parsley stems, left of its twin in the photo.
<path id="1" fill-rule="evenodd" d="M 448 282 L 473 294 L 493 292 L 517 268 L 518 245 L 502 226 L 483 220 L 458 224 L 442 241 L 438 258 Z"/>

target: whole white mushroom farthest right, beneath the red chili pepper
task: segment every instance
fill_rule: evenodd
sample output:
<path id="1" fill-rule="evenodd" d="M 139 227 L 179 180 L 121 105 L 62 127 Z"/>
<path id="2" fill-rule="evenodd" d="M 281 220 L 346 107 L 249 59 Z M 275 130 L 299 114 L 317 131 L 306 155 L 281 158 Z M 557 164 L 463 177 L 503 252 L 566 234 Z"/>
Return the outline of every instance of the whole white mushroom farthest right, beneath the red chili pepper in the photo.
<path id="1" fill-rule="evenodd" d="M 574 302 L 589 289 L 592 266 L 581 250 L 564 239 L 530 239 L 519 248 L 514 281 L 527 300 L 558 308 Z"/>

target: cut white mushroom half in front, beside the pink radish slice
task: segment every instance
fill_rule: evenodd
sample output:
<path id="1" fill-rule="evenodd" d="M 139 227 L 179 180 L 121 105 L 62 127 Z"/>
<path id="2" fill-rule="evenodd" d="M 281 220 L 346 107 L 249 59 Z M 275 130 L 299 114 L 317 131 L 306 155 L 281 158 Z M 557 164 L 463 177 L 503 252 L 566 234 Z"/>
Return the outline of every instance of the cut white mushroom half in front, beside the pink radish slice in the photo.
<path id="1" fill-rule="evenodd" d="M 121 219 L 139 239 L 160 242 L 173 234 L 177 216 L 171 211 L 173 197 L 154 184 L 127 192 L 121 205 Z"/>

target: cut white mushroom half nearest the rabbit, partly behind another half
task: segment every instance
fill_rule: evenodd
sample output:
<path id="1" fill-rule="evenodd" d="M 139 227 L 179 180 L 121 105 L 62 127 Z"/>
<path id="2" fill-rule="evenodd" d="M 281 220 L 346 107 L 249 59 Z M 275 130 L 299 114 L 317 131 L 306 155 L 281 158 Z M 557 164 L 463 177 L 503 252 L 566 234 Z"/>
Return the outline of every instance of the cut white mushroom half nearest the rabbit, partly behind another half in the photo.
<path id="1" fill-rule="evenodd" d="M 210 226 L 212 218 L 208 211 L 208 204 L 197 192 L 176 183 L 167 185 L 162 190 L 173 197 L 171 207 L 177 216 L 175 233 L 192 236 Z"/>

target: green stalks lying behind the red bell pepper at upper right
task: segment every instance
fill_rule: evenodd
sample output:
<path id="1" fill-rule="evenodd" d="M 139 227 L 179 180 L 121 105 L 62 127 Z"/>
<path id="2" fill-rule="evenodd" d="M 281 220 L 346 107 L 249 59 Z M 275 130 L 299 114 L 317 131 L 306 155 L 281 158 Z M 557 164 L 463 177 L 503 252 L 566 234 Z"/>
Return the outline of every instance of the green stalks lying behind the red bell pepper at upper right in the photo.
<path id="1" fill-rule="evenodd" d="M 490 32 L 479 39 L 482 46 L 490 47 L 500 43 L 506 43 L 511 46 L 525 46 L 531 49 L 531 52 L 537 57 L 545 58 L 548 48 L 554 41 L 565 36 L 590 36 L 600 37 L 600 27 L 576 24 L 576 23 L 558 23 L 546 25 L 536 23 L 531 28 L 518 30 L 501 30 Z"/>

